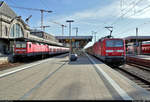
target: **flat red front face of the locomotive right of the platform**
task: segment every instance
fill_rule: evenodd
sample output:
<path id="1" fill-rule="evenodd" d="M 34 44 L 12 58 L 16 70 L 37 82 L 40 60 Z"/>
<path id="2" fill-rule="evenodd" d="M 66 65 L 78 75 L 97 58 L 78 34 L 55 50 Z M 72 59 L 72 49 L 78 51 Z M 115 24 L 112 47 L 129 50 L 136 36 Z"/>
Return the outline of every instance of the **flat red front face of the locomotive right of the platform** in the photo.
<path id="1" fill-rule="evenodd" d="M 105 39 L 105 61 L 122 64 L 125 61 L 125 43 L 123 39 Z"/>

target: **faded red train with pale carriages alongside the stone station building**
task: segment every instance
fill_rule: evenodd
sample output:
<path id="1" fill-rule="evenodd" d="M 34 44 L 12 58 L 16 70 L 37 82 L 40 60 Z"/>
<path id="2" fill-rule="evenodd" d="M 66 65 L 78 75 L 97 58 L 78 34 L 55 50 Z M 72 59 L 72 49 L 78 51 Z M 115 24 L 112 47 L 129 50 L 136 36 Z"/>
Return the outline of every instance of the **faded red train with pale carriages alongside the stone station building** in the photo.
<path id="1" fill-rule="evenodd" d="M 34 42 L 16 42 L 14 46 L 15 57 L 28 57 L 36 55 L 52 55 L 69 52 L 69 48 L 51 46 Z"/>

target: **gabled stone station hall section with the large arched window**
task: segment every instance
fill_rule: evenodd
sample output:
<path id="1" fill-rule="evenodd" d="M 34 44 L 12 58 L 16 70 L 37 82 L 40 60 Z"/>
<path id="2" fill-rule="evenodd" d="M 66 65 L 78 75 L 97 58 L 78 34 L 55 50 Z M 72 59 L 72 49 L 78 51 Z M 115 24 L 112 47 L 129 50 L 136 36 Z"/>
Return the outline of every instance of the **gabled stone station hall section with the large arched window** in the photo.
<path id="1" fill-rule="evenodd" d="M 29 26 L 4 1 L 0 1 L 0 54 L 12 52 L 13 39 L 27 38 L 29 34 Z"/>

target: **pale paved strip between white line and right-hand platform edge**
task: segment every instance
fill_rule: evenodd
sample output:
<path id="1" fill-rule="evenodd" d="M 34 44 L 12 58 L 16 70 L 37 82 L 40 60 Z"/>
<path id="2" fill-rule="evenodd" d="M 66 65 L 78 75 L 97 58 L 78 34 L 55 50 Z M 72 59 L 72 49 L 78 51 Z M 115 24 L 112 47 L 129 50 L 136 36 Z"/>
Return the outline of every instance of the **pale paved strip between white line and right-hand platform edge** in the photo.
<path id="1" fill-rule="evenodd" d="M 114 80 L 115 83 L 119 85 L 119 87 L 122 90 L 124 90 L 129 97 L 136 100 L 150 100 L 150 92 L 146 91 L 145 89 L 143 89 L 130 79 L 121 75 L 119 72 L 115 71 L 109 66 L 103 64 L 99 60 L 95 58 L 93 58 L 93 60 L 95 61 L 96 64 L 99 63 L 98 64 L 99 68 L 101 68 L 105 73 L 107 73 L 109 77 L 112 78 L 112 80 Z M 103 77 L 104 80 L 107 80 L 106 78 L 104 78 L 103 75 L 101 76 Z M 112 85 L 110 87 L 112 87 Z"/>

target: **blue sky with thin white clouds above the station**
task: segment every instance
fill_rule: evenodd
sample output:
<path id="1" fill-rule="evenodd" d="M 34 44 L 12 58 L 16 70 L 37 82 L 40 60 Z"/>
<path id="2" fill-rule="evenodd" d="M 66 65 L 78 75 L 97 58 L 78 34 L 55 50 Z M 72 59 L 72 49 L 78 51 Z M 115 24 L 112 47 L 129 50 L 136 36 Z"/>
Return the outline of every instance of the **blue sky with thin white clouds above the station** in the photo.
<path id="1" fill-rule="evenodd" d="M 112 35 L 116 38 L 135 36 L 138 27 L 140 36 L 150 35 L 150 0 L 4 0 L 9 6 L 51 10 L 44 13 L 44 25 L 50 26 L 45 31 L 54 36 L 61 35 L 64 24 L 66 36 L 69 35 L 66 20 L 74 20 L 73 27 L 78 27 L 79 36 L 92 35 L 97 32 L 96 40 L 109 35 L 106 26 L 113 26 Z M 29 26 L 40 27 L 40 11 L 12 8 L 25 20 L 32 15 Z M 75 29 L 72 29 L 75 35 Z M 91 46 L 94 39 L 87 46 Z"/>

